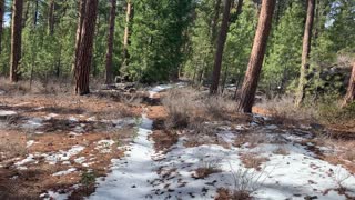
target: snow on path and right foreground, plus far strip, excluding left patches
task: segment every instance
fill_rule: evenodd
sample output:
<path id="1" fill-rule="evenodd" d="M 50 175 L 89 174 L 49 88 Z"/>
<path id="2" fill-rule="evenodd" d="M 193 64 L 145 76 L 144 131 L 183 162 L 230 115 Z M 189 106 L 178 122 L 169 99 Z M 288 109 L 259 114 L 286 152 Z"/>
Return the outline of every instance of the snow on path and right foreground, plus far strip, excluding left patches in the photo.
<path id="1" fill-rule="evenodd" d="M 169 88 L 153 88 L 150 97 Z M 275 133 L 277 126 L 262 127 L 258 131 L 264 132 L 266 142 L 256 147 L 246 143 L 231 148 L 217 144 L 186 148 L 187 138 L 181 137 L 170 152 L 156 154 L 153 141 L 149 140 L 151 128 L 152 121 L 143 114 L 126 157 L 112 160 L 112 172 L 98 180 L 97 191 L 89 199 L 214 199 L 219 188 L 250 190 L 255 199 L 346 199 L 335 191 L 341 186 L 347 189 L 347 194 L 355 196 L 355 177 L 300 144 L 310 136 L 297 130 Z M 221 128 L 217 136 L 231 143 L 241 137 L 243 129 Z M 286 153 L 277 153 L 280 149 Z M 244 167 L 241 154 L 247 152 L 267 158 L 261 170 Z M 197 179 L 194 177 L 199 168 L 215 168 L 220 172 Z"/>

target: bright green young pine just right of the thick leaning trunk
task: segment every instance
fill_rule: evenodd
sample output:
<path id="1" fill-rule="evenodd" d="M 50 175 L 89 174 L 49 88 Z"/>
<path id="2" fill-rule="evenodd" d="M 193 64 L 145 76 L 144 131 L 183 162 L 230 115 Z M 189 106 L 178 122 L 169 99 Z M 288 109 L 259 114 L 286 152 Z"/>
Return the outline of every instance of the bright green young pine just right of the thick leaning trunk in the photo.
<path id="1" fill-rule="evenodd" d="M 303 19 L 304 9 L 300 2 L 293 2 L 280 17 L 263 67 L 262 86 L 268 92 L 285 91 L 287 86 L 298 77 Z"/>

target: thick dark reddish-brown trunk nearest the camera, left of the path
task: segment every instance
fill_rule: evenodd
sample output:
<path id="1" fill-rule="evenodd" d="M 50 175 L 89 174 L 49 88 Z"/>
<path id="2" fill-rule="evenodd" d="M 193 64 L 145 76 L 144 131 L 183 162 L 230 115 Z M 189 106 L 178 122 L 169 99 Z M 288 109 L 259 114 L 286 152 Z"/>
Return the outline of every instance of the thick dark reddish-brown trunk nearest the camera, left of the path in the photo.
<path id="1" fill-rule="evenodd" d="M 89 78 L 98 12 L 98 1 L 99 0 L 87 1 L 85 16 L 82 23 L 81 41 L 79 44 L 80 49 L 77 62 L 78 66 L 75 67 L 75 93 L 80 96 L 90 93 Z"/>

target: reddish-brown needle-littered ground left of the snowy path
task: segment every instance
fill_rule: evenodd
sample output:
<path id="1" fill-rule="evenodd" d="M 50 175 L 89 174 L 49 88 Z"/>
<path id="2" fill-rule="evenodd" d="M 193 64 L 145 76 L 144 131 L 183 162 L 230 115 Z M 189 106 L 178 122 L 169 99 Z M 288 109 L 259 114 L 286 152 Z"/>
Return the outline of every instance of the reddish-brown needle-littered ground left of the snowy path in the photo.
<path id="1" fill-rule="evenodd" d="M 87 171 L 104 177 L 111 159 L 123 156 L 120 147 L 132 139 L 133 126 L 114 128 L 110 120 L 135 118 L 142 108 L 94 96 L 10 94 L 0 97 L 0 110 L 17 112 L 0 121 L 0 150 L 4 152 L 0 156 L 0 199 L 40 199 L 51 190 L 72 190 L 72 198 L 79 199 L 92 189 L 73 186 Z M 104 143 L 100 149 L 100 141 L 115 143 Z M 65 157 L 73 147 L 83 149 L 65 161 L 53 164 L 47 160 L 58 152 Z M 33 160 L 17 164 L 31 154 Z M 74 170 L 67 174 L 70 169 Z M 64 173 L 55 176 L 58 172 Z"/>

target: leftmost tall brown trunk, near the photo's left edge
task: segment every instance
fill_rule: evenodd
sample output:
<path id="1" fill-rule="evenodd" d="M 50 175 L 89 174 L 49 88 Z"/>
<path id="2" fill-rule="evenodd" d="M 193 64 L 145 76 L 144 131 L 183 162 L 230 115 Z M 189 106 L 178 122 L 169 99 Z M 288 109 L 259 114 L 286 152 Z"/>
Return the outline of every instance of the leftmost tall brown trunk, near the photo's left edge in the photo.
<path id="1" fill-rule="evenodd" d="M 10 81 L 19 80 L 19 64 L 21 60 L 21 34 L 22 34 L 22 10 L 23 0 L 12 2 L 11 24 L 11 57 L 10 57 Z"/>

